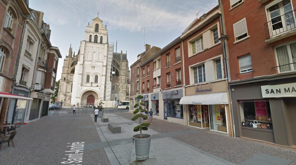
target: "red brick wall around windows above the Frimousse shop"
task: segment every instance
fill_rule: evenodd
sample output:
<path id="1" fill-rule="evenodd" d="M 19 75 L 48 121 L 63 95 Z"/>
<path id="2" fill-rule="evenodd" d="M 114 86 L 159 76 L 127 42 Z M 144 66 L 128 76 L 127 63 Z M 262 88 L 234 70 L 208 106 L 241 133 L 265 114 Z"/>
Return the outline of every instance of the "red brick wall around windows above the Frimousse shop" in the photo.
<path id="1" fill-rule="evenodd" d="M 197 32 L 194 32 L 192 35 L 190 35 L 189 37 L 187 37 L 186 39 L 183 40 L 185 84 L 186 85 L 190 84 L 189 83 L 189 66 L 194 65 L 199 62 L 202 62 L 202 61 L 206 61 L 207 59 L 213 58 L 218 55 L 223 55 L 223 46 L 222 46 L 222 43 L 220 43 L 220 44 L 215 45 L 215 46 L 213 46 L 203 52 L 200 52 L 194 56 L 188 57 L 188 41 L 190 39 L 192 39 L 193 37 L 201 34 L 203 31 L 207 30 L 208 28 L 210 28 L 211 26 L 213 26 L 217 22 L 219 22 L 219 24 L 220 24 L 219 17 L 214 19 L 213 21 L 208 23 L 205 27 L 202 27 L 200 30 L 198 30 Z M 220 28 L 218 28 L 218 31 L 220 31 Z M 221 34 L 221 32 L 220 32 L 220 34 Z M 221 63 L 223 63 L 223 66 L 225 68 L 224 61 L 221 61 Z M 224 76 L 225 76 L 225 71 L 224 71 Z"/>

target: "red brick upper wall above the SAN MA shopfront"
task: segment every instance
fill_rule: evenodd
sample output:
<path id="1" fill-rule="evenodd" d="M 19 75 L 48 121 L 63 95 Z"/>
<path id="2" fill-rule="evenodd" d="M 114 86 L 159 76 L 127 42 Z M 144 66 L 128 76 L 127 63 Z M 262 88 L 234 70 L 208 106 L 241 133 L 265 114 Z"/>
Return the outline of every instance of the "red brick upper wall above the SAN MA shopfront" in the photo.
<path id="1" fill-rule="evenodd" d="M 230 1 L 222 0 L 226 33 L 229 35 L 227 44 L 229 48 L 231 81 L 276 74 L 277 69 L 271 69 L 276 66 L 273 46 L 296 39 L 296 35 L 293 35 L 271 44 L 265 42 L 266 26 L 264 24 L 268 22 L 265 6 L 271 2 L 272 0 L 261 4 L 258 1 L 244 1 L 244 3 L 229 11 Z M 292 4 L 294 9 L 296 9 L 296 0 L 292 0 Z M 250 38 L 234 44 L 233 24 L 244 17 L 246 18 L 247 31 Z M 239 74 L 238 57 L 247 53 L 251 55 L 254 72 Z"/>

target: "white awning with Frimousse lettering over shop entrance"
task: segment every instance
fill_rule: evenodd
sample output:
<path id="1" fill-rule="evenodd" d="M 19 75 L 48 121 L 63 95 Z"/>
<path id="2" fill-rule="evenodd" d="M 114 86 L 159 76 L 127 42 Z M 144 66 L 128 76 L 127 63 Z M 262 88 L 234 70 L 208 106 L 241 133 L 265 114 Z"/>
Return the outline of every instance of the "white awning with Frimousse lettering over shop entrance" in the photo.
<path id="1" fill-rule="evenodd" d="M 228 104 L 227 92 L 184 96 L 180 104 Z"/>

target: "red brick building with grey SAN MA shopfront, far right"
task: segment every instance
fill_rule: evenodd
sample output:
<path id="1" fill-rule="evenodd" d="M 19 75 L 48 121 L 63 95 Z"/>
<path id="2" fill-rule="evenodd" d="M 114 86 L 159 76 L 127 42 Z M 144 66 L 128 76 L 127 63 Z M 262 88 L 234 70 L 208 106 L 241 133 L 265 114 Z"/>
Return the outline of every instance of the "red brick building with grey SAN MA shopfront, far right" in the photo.
<path id="1" fill-rule="evenodd" d="M 235 134 L 296 145 L 296 1 L 220 2 Z M 242 126 L 255 119 L 260 128 Z"/>

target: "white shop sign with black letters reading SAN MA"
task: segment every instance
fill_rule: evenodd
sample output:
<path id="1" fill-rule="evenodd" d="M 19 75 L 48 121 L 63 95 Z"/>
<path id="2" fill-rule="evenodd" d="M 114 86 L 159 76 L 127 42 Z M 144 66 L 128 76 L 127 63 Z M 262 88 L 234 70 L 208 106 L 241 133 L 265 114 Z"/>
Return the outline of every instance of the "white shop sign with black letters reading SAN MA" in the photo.
<path id="1" fill-rule="evenodd" d="M 296 83 L 261 86 L 263 98 L 296 97 Z"/>

